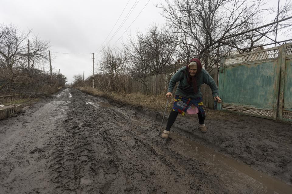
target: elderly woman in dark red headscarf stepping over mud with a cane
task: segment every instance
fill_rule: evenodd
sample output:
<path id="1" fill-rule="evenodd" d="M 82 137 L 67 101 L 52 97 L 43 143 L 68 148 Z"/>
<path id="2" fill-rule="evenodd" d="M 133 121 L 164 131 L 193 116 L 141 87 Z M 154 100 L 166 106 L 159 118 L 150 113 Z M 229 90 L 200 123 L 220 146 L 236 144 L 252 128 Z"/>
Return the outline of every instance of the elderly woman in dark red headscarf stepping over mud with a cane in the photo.
<path id="1" fill-rule="evenodd" d="M 162 138 L 167 139 L 170 135 L 170 128 L 176 120 L 178 114 L 184 115 L 190 108 L 197 108 L 199 117 L 199 127 L 201 132 L 207 132 L 204 120 L 206 118 L 206 112 L 204 109 L 202 93 L 200 92 L 200 86 L 204 83 L 210 86 L 214 100 L 221 103 L 219 97 L 218 88 L 214 79 L 209 73 L 202 69 L 202 65 L 199 59 L 191 59 L 189 64 L 176 72 L 170 79 L 168 91 L 166 96 L 169 98 L 172 96 L 172 90 L 176 83 L 179 85 L 176 89 L 175 100 L 173 102 L 172 111 L 169 115 L 166 129 L 162 133 Z"/>

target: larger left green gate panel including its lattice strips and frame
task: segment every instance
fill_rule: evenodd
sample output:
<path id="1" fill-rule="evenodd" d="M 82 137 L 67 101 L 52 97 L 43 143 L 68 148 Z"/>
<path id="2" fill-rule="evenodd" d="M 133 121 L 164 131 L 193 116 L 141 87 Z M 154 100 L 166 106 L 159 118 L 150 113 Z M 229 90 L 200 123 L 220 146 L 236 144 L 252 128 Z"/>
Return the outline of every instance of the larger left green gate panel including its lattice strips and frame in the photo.
<path id="1" fill-rule="evenodd" d="M 221 58 L 217 109 L 277 118 L 281 50 L 279 47 Z"/>

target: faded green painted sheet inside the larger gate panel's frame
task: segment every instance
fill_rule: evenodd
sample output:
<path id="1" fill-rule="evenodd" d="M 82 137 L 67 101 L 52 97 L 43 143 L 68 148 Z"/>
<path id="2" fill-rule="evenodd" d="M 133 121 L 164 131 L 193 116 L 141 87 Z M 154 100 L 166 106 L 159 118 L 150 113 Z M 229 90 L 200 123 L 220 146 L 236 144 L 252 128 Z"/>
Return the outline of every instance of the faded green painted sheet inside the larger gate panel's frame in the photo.
<path id="1" fill-rule="evenodd" d="M 224 102 L 273 110 L 276 70 L 275 61 L 225 67 Z"/>

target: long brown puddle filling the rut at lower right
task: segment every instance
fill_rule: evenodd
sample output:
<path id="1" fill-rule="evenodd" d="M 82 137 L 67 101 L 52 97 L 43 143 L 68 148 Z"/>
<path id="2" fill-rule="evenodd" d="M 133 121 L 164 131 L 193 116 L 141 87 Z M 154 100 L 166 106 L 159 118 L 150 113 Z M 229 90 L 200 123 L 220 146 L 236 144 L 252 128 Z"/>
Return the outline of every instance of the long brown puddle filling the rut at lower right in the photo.
<path id="1" fill-rule="evenodd" d="M 227 156 L 221 155 L 174 132 L 171 134 L 171 139 L 178 142 L 179 146 L 178 144 L 171 143 L 169 148 L 195 158 L 202 163 L 206 163 L 205 170 L 207 172 L 219 173 L 220 178 L 230 183 L 235 183 L 235 185 L 242 185 L 245 183 L 252 186 L 260 193 L 292 193 L 292 186 L 267 176 Z"/>

